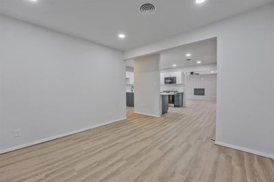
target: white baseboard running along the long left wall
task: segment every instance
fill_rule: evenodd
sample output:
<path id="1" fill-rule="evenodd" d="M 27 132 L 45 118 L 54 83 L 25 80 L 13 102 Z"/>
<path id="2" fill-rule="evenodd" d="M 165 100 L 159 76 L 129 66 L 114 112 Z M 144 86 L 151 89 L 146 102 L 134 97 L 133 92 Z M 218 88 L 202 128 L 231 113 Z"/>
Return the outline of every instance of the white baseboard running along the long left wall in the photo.
<path id="1" fill-rule="evenodd" d="M 42 139 L 42 140 L 36 140 L 34 142 L 29 142 L 27 144 L 21 144 L 21 145 L 18 145 L 18 146 L 12 146 L 10 148 L 5 148 L 3 150 L 0 150 L 0 154 L 8 153 L 8 152 L 11 152 L 11 151 L 15 151 L 15 150 L 18 150 L 18 149 L 21 149 L 21 148 L 25 148 L 27 146 L 32 146 L 32 145 L 40 144 L 40 143 L 43 143 L 43 142 L 48 142 L 50 140 L 55 140 L 55 139 L 58 139 L 58 138 L 62 138 L 62 137 L 68 136 L 68 135 L 73 135 L 75 133 L 80 133 L 80 132 L 87 131 L 87 130 L 90 130 L 90 129 L 95 129 L 95 128 L 101 127 L 103 125 L 108 125 L 108 124 L 111 124 L 111 123 L 114 123 L 114 122 L 118 122 L 118 121 L 121 121 L 121 120 L 126 120 L 126 119 L 127 118 L 121 118 L 119 120 L 112 120 L 112 121 L 104 122 L 104 123 L 101 123 L 99 125 L 94 125 L 92 127 L 88 127 L 88 128 L 85 128 L 85 129 L 78 129 L 76 131 L 71 131 L 69 133 L 63 133 L 63 134 L 60 134 L 60 135 L 52 136 L 50 138 L 45 138 L 45 139 Z"/>

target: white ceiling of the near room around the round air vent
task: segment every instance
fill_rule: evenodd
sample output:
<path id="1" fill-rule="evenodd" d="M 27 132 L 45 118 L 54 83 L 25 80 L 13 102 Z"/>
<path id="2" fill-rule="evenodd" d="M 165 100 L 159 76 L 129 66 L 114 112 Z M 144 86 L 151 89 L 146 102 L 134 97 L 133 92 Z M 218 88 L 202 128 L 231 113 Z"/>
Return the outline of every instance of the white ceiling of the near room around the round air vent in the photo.
<path id="1" fill-rule="evenodd" d="M 157 10 L 138 12 L 144 0 L 0 0 L 0 13 L 128 50 L 251 10 L 274 0 L 148 0 Z M 127 38 L 119 40 L 117 34 Z"/>

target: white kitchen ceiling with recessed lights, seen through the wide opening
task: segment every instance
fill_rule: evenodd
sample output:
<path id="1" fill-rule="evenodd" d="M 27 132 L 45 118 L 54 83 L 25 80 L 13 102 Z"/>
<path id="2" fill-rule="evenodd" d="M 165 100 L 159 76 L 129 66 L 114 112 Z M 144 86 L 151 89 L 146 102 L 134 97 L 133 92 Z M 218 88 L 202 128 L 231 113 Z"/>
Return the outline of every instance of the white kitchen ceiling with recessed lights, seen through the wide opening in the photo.
<path id="1" fill-rule="evenodd" d="M 160 52 L 160 68 L 161 70 L 169 68 L 179 68 L 187 66 L 199 66 L 203 64 L 216 64 L 217 62 L 217 48 L 216 38 L 210 38 L 199 42 L 193 42 L 181 47 L 175 47 Z M 191 54 L 186 57 L 186 54 Z M 187 61 L 191 58 L 191 61 Z M 200 61 L 201 64 L 197 64 Z M 174 67 L 173 64 L 176 66 Z M 129 68 L 134 67 L 133 60 L 127 60 L 126 65 Z"/>

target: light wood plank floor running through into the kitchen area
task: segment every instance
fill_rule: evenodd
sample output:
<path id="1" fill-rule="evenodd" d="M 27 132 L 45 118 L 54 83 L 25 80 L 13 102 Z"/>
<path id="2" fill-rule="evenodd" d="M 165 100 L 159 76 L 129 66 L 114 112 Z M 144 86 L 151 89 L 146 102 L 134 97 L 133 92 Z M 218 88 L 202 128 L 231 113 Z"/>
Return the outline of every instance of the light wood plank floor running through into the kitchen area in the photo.
<path id="1" fill-rule="evenodd" d="M 214 145 L 216 103 L 188 101 L 0 155 L 0 181 L 274 181 L 271 159 Z"/>

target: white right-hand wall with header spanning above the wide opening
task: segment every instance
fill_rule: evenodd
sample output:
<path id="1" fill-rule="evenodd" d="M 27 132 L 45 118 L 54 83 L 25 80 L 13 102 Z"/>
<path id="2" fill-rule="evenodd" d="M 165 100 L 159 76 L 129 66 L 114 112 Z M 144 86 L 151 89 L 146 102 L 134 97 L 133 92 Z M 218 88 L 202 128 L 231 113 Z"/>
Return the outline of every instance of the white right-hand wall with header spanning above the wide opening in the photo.
<path id="1" fill-rule="evenodd" d="M 216 143 L 273 157 L 273 3 L 125 52 L 125 59 L 217 37 Z"/>

